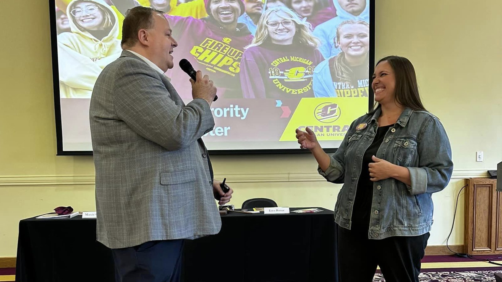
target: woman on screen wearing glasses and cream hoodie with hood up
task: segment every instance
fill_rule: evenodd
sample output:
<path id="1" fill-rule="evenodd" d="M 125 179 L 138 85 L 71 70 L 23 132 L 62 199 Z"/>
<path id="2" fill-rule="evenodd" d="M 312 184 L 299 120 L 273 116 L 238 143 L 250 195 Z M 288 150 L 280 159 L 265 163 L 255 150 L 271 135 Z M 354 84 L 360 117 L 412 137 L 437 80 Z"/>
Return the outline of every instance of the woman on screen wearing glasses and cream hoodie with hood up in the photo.
<path id="1" fill-rule="evenodd" d="M 101 70 L 122 51 L 117 16 L 102 0 L 75 0 L 66 11 L 71 32 L 57 39 L 60 97 L 90 98 Z"/>

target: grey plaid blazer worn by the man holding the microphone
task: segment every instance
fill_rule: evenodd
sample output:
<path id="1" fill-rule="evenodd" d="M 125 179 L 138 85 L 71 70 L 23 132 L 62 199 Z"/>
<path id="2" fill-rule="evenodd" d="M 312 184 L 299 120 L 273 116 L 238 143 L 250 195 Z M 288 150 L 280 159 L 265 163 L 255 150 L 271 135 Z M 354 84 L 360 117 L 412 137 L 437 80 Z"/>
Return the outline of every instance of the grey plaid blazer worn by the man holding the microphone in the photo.
<path id="1" fill-rule="evenodd" d="M 123 51 L 97 78 L 89 118 L 99 242 L 123 248 L 219 232 L 201 139 L 214 127 L 206 101 L 185 105 L 164 75 Z"/>

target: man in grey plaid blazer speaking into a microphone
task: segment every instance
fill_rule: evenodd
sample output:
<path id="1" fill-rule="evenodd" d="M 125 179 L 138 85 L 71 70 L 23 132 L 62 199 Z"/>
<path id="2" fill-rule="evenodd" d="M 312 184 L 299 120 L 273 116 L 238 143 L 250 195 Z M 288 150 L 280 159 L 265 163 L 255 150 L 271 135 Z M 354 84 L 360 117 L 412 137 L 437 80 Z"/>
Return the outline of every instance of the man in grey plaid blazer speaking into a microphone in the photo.
<path id="1" fill-rule="evenodd" d="M 183 103 L 164 75 L 177 43 L 163 14 L 129 11 L 123 52 L 90 102 L 97 240 L 112 249 L 117 281 L 178 281 L 183 239 L 218 233 L 214 199 L 225 204 L 233 192 L 213 181 L 201 139 L 214 126 L 216 88 L 197 71 L 194 99 Z"/>

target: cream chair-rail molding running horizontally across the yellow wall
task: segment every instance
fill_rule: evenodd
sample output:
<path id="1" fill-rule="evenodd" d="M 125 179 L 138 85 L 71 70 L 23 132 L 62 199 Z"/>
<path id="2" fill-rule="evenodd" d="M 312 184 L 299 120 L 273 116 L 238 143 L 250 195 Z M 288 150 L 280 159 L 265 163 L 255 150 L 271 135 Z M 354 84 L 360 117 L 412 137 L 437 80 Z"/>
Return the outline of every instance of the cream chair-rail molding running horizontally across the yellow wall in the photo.
<path id="1" fill-rule="evenodd" d="M 215 174 L 215 179 L 231 179 L 232 183 L 326 181 L 318 173 L 245 173 Z M 486 178 L 486 170 L 454 170 L 451 179 Z M 94 175 L 0 175 L 0 186 L 94 185 Z"/>

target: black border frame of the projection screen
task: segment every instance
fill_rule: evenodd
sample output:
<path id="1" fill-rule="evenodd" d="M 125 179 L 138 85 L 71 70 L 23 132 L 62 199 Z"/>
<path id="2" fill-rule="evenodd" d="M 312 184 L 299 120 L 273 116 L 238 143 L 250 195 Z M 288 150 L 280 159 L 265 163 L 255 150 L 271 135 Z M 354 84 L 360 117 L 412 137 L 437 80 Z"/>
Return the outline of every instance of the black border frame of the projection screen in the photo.
<path id="1" fill-rule="evenodd" d="M 369 0 L 369 73 L 370 78 L 374 71 L 374 16 L 375 0 Z M 59 92 L 59 63 L 57 50 L 57 29 L 56 29 L 56 4 L 54 0 L 49 0 L 49 20 L 51 31 L 51 50 L 52 50 L 52 80 L 54 87 L 54 114 L 56 122 L 56 147 L 57 156 L 92 156 L 92 151 L 64 151 L 63 150 L 63 131 L 61 124 L 61 98 Z M 373 90 L 369 87 L 368 111 L 373 108 Z M 326 153 L 334 153 L 337 148 L 323 148 Z M 264 155 L 264 154 L 298 154 L 309 153 L 309 150 L 302 149 L 245 149 L 245 150 L 210 150 L 212 155 Z"/>

